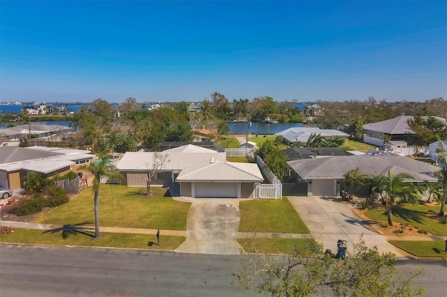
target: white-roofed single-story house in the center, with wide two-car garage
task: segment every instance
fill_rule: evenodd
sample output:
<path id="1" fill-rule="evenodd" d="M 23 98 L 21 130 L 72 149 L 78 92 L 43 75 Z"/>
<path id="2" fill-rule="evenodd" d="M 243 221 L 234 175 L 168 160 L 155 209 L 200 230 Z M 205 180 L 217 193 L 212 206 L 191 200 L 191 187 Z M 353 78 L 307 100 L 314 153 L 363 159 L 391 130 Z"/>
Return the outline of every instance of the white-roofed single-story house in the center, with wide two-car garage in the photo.
<path id="1" fill-rule="evenodd" d="M 191 144 L 161 153 L 127 152 L 115 165 L 128 186 L 145 187 L 157 154 L 166 156 L 166 161 L 152 185 L 179 189 L 180 196 L 249 198 L 255 184 L 264 181 L 258 165 L 227 162 L 226 153 Z"/>

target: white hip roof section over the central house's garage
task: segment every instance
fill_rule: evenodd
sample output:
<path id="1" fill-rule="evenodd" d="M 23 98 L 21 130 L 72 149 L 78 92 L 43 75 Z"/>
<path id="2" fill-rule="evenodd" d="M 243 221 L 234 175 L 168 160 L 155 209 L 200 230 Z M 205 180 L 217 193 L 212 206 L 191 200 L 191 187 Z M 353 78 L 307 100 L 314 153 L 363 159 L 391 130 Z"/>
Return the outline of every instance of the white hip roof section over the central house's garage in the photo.
<path id="1" fill-rule="evenodd" d="M 177 181 L 247 181 L 262 182 L 258 165 L 236 162 L 213 162 L 203 168 L 177 176 Z"/>

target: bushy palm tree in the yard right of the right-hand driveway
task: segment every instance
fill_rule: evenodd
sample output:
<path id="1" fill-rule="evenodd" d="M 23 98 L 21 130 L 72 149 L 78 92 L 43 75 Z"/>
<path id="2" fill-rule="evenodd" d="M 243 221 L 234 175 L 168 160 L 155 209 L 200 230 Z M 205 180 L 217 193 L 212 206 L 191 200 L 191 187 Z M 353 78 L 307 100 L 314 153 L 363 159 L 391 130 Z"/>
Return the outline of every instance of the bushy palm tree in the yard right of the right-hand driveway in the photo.
<path id="1" fill-rule="evenodd" d="M 416 185 L 405 181 L 405 179 L 413 179 L 413 176 L 406 173 L 392 174 L 388 171 L 387 183 L 385 186 L 385 201 L 388 208 L 388 224 L 393 226 L 393 206 L 398 199 L 410 201 L 418 193 L 419 190 Z"/>

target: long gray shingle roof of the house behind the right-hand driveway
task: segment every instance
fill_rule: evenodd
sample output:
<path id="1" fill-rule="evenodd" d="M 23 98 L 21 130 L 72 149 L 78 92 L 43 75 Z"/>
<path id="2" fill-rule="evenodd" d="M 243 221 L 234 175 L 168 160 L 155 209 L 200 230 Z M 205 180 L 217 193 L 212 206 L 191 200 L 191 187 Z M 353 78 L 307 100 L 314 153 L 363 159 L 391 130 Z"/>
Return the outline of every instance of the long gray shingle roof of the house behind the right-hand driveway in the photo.
<path id="1" fill-rule="evenodd" d="M 406 172 L 415 178 L 414 181 L 437 181 L 434 172 L 439 167 L 425 162 L 413 160 L 399 155 L 336 155 L 326 158 L 289 161 L 287 164 L 302 178 L 339 178 L 349 170 L 360 168 L 364 174 L 388 174 Z"/>

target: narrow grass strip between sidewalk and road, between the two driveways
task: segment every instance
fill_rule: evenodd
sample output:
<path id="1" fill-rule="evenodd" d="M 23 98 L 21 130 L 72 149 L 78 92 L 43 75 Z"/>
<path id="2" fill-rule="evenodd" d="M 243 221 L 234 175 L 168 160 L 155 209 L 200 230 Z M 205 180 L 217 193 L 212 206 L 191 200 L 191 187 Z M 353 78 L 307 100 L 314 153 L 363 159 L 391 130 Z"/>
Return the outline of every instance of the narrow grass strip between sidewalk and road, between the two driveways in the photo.
<path id="1" fill-rule="evenodd" d="M 251 245 L 256 248 L 258 252 L 264 254 L 286 254 L 291 252 L 295 245 L 303 246 L 307 241 L 314 241 L 314 239 L 296 239 L 296 238 L 278 238 L 278 239 L 267 239 L 267 238 L 239 238 L 237 242 L 242 245 L 242 248 L 246 252 L 255 252 L 247 241 L 251 242 Z"/>

